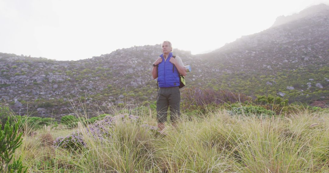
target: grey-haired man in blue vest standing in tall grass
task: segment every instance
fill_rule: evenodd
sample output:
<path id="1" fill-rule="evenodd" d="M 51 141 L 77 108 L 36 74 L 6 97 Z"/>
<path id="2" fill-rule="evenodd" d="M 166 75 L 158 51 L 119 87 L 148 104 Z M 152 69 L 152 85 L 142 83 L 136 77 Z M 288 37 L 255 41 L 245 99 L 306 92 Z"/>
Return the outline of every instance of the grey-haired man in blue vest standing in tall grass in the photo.
<path id="1" fill-rule="evenodd" d="M 169 41 L 164 41 L 161 46 L 163 54 L 154 62 L 152 76 L 153 79 L 158 78 L 157 121 L 159 131 L 163 133 L 168 107 L 170 121 L 174 127 L 180 116 L 179 74 L 186 76 L 186 68 L 179 56 L 173 58 L 172 45 Z"/>

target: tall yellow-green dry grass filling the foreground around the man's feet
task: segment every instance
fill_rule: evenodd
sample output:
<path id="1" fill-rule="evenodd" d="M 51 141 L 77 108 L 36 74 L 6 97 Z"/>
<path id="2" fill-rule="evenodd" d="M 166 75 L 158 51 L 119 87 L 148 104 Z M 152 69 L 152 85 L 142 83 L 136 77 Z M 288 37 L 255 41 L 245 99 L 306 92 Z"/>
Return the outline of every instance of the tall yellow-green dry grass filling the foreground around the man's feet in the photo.
<path id="1" fill-rule="evenodd" d="M 225 110 L 209 111 L 204 118 L 183 114 L 177 127 L 166 124 L 166 136 L 142 127 L 156 125 L 155 112 L 138 114 L 137 123 L 115 122 L 111 138 L 104 140 L 93 138 L 85 125 L 41 129 L 24 136 L 17 156 L 30 172 L 329 172 L 326 112 L 271 118 Z M 48 143 L 77 130 L 87 144 L 81 151 Z"/>

